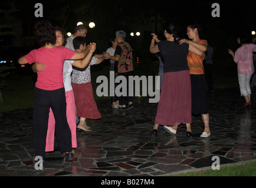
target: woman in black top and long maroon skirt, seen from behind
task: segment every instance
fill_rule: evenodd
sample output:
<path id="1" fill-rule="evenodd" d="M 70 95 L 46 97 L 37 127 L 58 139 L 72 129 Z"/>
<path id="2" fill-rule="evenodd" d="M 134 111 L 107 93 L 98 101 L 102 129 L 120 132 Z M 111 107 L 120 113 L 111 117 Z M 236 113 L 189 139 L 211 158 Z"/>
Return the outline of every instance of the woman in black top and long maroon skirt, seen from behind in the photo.
<path id="1" fill-rule="evenodd" d="M 170 134 L 175 134 L 180 123 L 191 123 L 191 79 L 189 75 L 186 56 L 189 51 L 196 50 L 187 43 L 180 45 L 175 26 L 165 24 L 163 27 L 166 40 L 159 41 L 157 35 L 152 33 L 150 52 L 157 53 L 163 58 L 163 83 L 160 100 L 157 107 L 155 126 L 152 136 L 157 135 L 157 128 L 164 125 Z M 157 44 L 155 45 L 155 42 Z M 201 53 L 201 51 L 194 51 Z"/>

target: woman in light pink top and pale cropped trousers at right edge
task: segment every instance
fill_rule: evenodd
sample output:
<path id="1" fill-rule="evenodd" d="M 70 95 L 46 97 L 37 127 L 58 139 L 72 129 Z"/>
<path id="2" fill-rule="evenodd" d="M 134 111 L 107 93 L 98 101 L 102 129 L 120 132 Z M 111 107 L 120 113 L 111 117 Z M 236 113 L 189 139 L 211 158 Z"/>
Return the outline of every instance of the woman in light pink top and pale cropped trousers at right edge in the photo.
<path id="1" fill-rule="evenodd" d="M 254 73 L 252 52 L 256 51 L 256 45 L 249 43 L 248 38 L 245 37 L 239 37 L 237 42 L 238 44 L 241 44 L 241 47 L 238 48 L 235 53 L 228 49 L 228 53 L 232 55 L 234 62 L 237 63 L 238 82 L 241 96 L 244 96 L 245 99 L 244 106 L 248 106 L 252 103 L 250 79 L 251 75 Z"/>

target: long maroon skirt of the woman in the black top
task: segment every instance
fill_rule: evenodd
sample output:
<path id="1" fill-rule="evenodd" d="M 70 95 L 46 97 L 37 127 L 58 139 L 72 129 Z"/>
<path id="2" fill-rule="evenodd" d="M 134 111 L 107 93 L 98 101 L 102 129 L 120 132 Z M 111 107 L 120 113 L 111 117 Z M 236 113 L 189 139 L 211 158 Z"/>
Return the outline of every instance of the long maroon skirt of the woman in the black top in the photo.
<path id="1" fill-rule="evenodd" d="M 163 73 L 162 92 L 155 123 L 174 126 L 191 122 L 191 78 L 189 70 Z"/>

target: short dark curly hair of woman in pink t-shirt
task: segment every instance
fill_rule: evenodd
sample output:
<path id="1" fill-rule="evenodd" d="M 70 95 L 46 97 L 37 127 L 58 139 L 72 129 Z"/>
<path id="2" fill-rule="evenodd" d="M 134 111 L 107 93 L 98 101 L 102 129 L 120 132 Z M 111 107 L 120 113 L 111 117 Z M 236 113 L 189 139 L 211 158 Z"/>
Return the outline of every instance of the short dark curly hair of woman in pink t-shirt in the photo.
<path id="1" fill-rule="evenodd" d="M 41 47 L 45 46 L 46 43 L 51 43 L 52 45 L 56 43 L 55 29 L 47 20 L 35 22 L 34 35 Z"/>

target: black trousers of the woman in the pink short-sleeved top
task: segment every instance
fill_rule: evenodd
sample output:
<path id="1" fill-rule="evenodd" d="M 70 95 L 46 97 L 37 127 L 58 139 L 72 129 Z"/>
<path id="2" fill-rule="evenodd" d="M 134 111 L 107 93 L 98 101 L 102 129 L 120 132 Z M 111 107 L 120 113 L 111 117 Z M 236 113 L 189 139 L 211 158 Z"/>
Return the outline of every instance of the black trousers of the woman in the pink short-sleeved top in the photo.
<path id="1" fill-rule="evenodd" d="M 65 89 L 43 90 L 35 88 L 33 112 L 34 149 L 35 156 L 41 156 L 42 159 L 44 159 L 45 155 L 50 108 L 54 113 L 55 131 L 60 151 L 72 151 L 71 131 L 66 115 L 67 103 L 65 100 Z"/>

